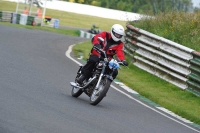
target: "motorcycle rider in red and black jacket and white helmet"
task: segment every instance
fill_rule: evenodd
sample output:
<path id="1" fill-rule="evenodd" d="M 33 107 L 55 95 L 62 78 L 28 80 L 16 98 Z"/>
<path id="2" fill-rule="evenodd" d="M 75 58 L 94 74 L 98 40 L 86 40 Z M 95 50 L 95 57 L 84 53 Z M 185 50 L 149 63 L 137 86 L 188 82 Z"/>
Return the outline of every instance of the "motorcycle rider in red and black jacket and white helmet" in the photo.
<path id="1" fill-rule="evenodd" d="M 117 56 L 117 60 L 121 61 L 125 66 L 128 66 L 128 63 L 125 60 L 123 53 L 123 42 L 121 41 L 124 36 L 124 28 L 120 24 L 114 24 L 111 27 L 110 32 L 101 32 L 96 34 L 92 38 L 92 44 L 106 52 L 106 55 L 111 60 L 114 55 Z M 104 39 L 103 43 L 100 43 L 98 37 Z M 91 76 L 92 70 L 95 68 L 97 62 L 99 62 L 101 54 L 92 48 L 90 57 L 85 66 L 81 69 L 82 75 L 77 79 L 78 84 L 82 84 L 85 79 L 88 79 Z M 113 79 L 116 78 L 118 74 L 117 69 L 113 72 Z"/>

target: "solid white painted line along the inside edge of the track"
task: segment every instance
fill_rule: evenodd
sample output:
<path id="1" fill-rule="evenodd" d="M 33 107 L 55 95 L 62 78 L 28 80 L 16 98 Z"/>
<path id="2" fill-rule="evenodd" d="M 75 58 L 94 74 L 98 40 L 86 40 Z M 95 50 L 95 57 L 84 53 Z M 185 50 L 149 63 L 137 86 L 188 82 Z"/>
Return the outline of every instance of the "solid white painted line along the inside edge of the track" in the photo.
<path id="1" fill-rule="evenodd" d="M 81 64 L 80 62 L 78 62 L 77 60 L 73 59 L 73 58 L 70 56 L 70 53 L 71 53 L 71 51 L 72 51 L 72 47 L 73 47 L 74 45 L 75 45 L 75 44 L 69 46 L 69 48 L 68 48 L 68 50 L 66 51 L 65 55 L 66 55 L 69 59 L 71 59 L 72 61 L 76 62 L 78 65 L 83 65 L 83 64 Z M 124 94 L 124 95 L 127 96 L 128 98 L 130 98 L 130 99 L 132 99 L 132 100 L 138 102 L 139 104 L 141 104 L 141 105 L 143 105 L 143 106 L 145 106 L 145 107 L 147 107 L 147 108 L 149 108 L 149 109 L 151 109 L 151 110 L 153 110 L 153 111 L 155 111 L 155 112 L 161 114 L 162 116 L 165 116 L 165 117 L 167 117 L 167 118 L 169 118 L 169 119 L 171 119 L 171 120 L 173 120 L 173 121 L 175 121 L 175 122 L 177 122 L 177 123 L 179 123 L 179 124 L 181 124 L 181 125 L 183 125 L 183 126 L 185 126 L 185 127 L 187 127 L 187 128 L 192 129 L 193 131 L 196 131 L 196 132 L 200 133 L 200 131 L 196 130 L 195 128 L 192 128 L 192 127 L 186 125 L 185 123 L 182 123 L 182 122 L 180 122 L 180 121 L 178 121 L 178 120 L 176 120 L 176 119 L 174 119 L 174 118 L 172 118 L 172 117 L 170 117 L 170 116 L 168 116 L 168 115 L 166 115 L 166 114 L 164 114 L 164 113 L 162 113 L 162 112 L 156 110 L 155 108 L 152 108 L 152 107 L 148 106 L 147 104 L 145 104 L 145 103 L 143 103 L 143 102 L 141 102 L 141 101 L 139 101 L 139 100 L 133 98 L 131 95 L 129 95 L 129 94 L 127 94 L 127 93 L 121 91 L 120 89 L 116 88 L 115 86 L 111 85 L 111 87 L 112 87 L 113 89 L 115 89 L 116 91 L 118 91 L 118 92 Z"/>

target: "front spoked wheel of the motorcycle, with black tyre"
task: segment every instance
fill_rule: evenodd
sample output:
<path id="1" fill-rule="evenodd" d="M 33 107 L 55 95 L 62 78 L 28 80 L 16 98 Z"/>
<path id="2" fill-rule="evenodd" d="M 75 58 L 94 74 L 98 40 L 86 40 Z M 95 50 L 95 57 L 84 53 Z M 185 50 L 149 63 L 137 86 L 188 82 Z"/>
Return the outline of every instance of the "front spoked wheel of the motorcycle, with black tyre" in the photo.
<path id="1" fill-rule="evenodd" d="M 97 105 L 99 102 L 101 102 L 101 100 L 106 96 L 111 82 L 112 81 L 107 78 L 101 80 L 99 87 L 94 89 L 92 95 L 90 96 L 91 105 Z"/>

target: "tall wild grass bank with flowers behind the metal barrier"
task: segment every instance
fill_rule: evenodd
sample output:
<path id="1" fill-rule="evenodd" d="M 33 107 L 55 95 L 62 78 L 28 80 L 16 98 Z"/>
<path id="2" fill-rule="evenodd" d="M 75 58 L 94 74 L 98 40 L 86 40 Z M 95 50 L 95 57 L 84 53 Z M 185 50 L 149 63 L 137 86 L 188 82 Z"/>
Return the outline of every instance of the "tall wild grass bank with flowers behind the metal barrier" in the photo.
<path id="1" fill-rule="evenodd" d="M 169 12 L 139 22 L 130 22 L 186 47 L 200 51 L 200 11 L 195 13 Z"/>

